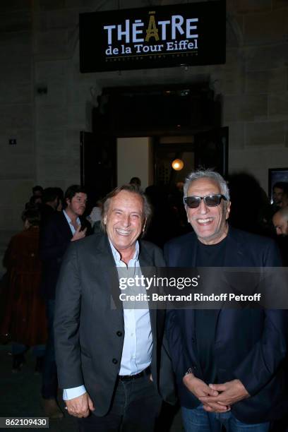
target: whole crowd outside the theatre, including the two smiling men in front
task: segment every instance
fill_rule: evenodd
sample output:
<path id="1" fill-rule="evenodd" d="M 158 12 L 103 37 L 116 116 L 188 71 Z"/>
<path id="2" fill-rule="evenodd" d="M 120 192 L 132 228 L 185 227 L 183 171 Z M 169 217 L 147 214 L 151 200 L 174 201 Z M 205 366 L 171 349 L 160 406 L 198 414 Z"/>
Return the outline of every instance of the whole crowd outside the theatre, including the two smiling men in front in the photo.
<path id="1" fill-rule="evenodd" d="M 88 198 L 79 185 L 32 188 L 4 257 L 1 335 L 15 373 L 32 349 L 44 415 L 64 416 L 61 388 L 83 432 L 161 430 L 162 401 L 177 397 L 186 432 L 280 432 L 286 311 L 188 308 L 165 318 L 148 304 L 113 308 L 111 290 L 129 268 L 286 265 L 288 184 L 273 185 L 270 203 L 253 177 L 226 182 L 207 170 L 145 192 L 133 177 Z"/>

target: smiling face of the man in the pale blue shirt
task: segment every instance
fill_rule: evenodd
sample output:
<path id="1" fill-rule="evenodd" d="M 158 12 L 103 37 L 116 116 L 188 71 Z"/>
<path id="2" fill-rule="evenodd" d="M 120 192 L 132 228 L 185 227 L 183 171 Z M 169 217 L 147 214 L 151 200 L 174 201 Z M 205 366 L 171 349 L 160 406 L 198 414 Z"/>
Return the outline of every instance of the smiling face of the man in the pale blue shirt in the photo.
<path id="1" fill-rule="evenodd" d="M 121 191 L 111 198 L 103 223 L 107 235 L 119 253 L 133 253 L 145 224 L 143 199 L 137 193 Z"/>

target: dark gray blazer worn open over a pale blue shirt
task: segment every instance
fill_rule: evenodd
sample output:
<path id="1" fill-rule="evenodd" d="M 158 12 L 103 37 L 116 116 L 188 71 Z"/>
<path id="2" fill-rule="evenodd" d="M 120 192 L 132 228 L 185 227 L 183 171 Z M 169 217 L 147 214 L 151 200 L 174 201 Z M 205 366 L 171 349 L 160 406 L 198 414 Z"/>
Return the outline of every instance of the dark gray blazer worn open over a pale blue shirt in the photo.
<path id="1" fill-rule="evenodd" d="M 140 241 L 140 267 L 164 267 L 160 248 Z M 112 300 L 114 287 L 114 300 Z M 85 385 L 94 414 L 109 410 L 124 343 L 124 316 L 116 304 L 119 281 L 105 234 L 69 246 L 56 289 L 54 318 L 56 364 L 60 388 Z M 153 383 L 164 400 L 174 403 L 172 366 L 163 342 L 165 311 L 150 310 Z"/>

